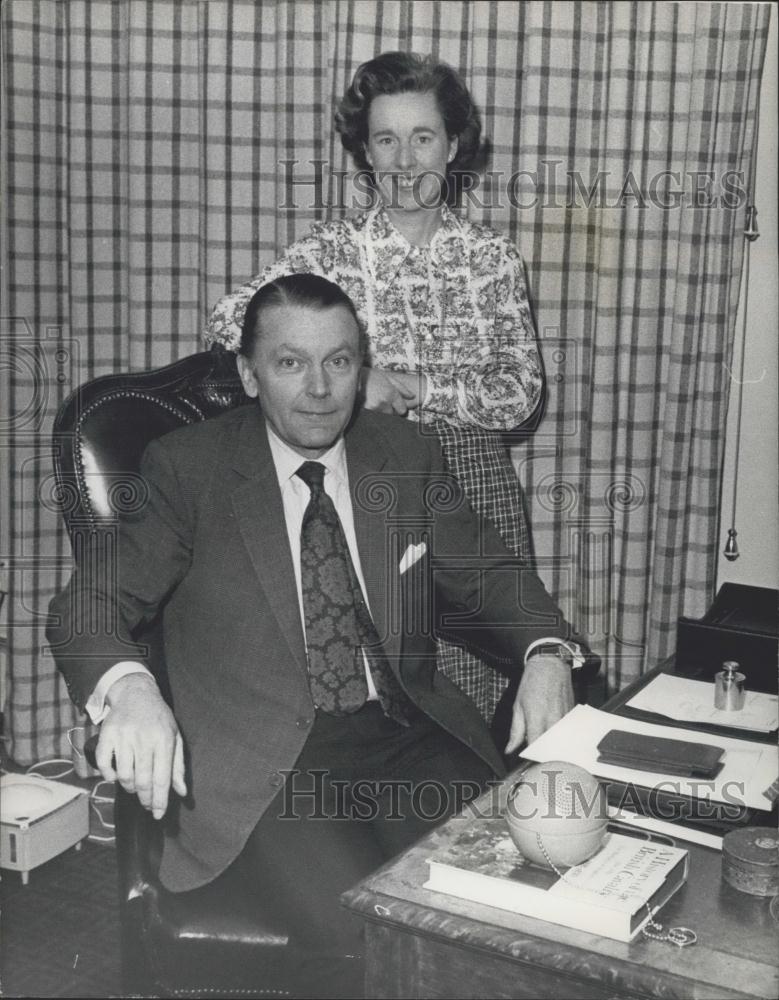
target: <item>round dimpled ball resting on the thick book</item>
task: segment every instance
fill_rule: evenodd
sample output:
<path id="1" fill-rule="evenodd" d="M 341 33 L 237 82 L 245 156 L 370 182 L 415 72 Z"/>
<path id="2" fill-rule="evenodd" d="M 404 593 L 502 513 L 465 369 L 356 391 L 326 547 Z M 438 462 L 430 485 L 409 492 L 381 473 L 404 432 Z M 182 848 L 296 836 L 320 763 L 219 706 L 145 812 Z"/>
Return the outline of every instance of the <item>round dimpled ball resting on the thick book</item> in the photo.
<path id="1" fill-rule="evenodd" d="M 598 779 L 576 764 L 533 764 L 509 792 L 506 821 L 529 861 L 568 868 L 600 850 L 608 823 L 606 794 Z"/>

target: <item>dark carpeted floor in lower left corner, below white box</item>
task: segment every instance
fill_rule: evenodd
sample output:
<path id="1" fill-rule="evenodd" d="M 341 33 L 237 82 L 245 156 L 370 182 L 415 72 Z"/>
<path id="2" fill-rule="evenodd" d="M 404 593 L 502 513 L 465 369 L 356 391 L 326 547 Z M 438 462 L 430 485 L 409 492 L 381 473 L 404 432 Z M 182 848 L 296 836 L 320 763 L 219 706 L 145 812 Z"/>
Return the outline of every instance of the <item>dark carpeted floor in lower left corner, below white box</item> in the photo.
<path id="1" fill-rule="evenodd" d="M 30 872 L 4 871 L 0 993 L 121 996 L 114 848 L 86 842 Z"/>

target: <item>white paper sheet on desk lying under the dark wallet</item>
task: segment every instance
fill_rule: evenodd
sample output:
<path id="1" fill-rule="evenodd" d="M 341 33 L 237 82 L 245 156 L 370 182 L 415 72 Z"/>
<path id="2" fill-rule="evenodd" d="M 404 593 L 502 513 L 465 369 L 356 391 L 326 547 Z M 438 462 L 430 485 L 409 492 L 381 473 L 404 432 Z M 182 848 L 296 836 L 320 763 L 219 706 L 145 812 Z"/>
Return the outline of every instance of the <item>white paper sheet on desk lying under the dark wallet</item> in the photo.
<path id="1" fill-rule="evenodd" d="M 725 751 L 722 770 L 715 778 L 702 781 L 604 764 L 598 760 L 598 744 L 613 729 L 721 747 Z M 601 712 L 588 705 L 577 705 L 531 743 L 522 756 L 541 763 L 567 760 L 579 764 L 617 786 L 638 789 L 639 798 L 640 790 L 644 789 L 650 793 L 650 799 L 654 796 L 656 805 L 661 809 L 663 797 L 676 797 L 690 806 L 690 814 L 678 816 L 683 821 L 719 817 L 738 822 L 739 811 L 742 814 L 749 809 L 770 811 L 779 793 L 779 759 L 775 746 L 641 722 Z M 612 795 L 610 801 L 613 801 Z M 620 804 L 641 811 L 638 802 L 634 806 L 627 799 Z M 669 813 L 663 816 L 662 811 L 660 815 L 665 819 L 671 818 Z"/>

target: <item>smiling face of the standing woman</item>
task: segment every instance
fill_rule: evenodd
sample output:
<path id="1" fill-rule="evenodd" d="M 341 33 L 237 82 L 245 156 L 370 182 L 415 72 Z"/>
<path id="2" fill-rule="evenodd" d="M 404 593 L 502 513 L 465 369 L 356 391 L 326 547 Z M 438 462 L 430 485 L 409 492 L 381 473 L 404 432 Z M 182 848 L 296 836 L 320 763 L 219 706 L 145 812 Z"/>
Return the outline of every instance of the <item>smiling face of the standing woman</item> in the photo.
<path id="1" fill-rule="evenodd" d="M 366 157 L 388 208 L 436 208 L 456 153 L 457 139 L 446 135 L 435 94 L 382 94 L 371 102 Z"/>

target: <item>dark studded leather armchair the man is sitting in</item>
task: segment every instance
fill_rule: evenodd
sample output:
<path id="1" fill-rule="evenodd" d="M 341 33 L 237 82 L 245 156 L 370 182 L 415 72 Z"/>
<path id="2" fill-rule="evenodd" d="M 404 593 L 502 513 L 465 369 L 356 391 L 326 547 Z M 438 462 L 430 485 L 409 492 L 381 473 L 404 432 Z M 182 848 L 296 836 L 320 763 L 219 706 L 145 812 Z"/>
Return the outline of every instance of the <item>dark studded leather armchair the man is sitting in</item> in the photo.
<path id="1" fill-rule="evenodd" d="M 54 425 L 55 474 L 74 551 L 83 533 L 115 530 L 137 496 L 140 458 L 152 439 L 245 402 L 235 358 L 221 348 L 78 389 Z M 143 641 L 165 692 L 158 630 Z M 116 836 L 125 993 L 202 998 L 299 992 L 298 960 L 274 900 L 250 897 L 235 865 L 201 889 L 167 892 L 156 876 L 160 826 L 118 786 Z"/>

